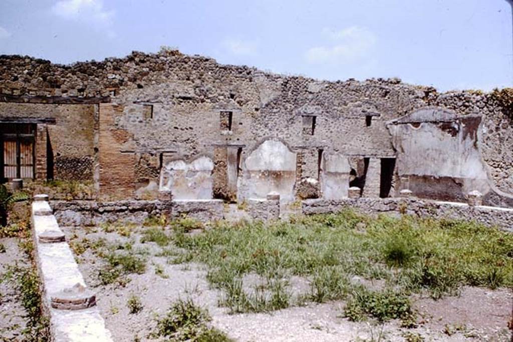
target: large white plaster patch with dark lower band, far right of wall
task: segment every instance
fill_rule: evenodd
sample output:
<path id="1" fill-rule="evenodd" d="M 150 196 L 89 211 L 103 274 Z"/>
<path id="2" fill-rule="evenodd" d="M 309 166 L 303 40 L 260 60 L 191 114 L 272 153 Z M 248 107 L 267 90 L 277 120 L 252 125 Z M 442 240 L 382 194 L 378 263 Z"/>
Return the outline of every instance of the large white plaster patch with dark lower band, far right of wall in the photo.
<path id="1" fill-rule="evenodd" d="M 434 121 L 430 121 L 434 119 Z M 426 108 L 388 127 L 398 150 L 399 189 L 423 198 L 464 201 L 490 190 L 478 149 L 481 116 Z"/>

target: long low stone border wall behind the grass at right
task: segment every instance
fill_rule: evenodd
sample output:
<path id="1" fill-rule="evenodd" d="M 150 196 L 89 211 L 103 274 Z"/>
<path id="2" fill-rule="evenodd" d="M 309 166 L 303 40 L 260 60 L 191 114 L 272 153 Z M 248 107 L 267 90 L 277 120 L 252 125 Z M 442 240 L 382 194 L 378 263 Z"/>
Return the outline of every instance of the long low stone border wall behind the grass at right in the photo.
<path id="1" fill-rule="evenodd" d="M 345 198 L 340 200 L 306 199 L 303 214 L 324 214 L 353 208 L 364 213 L 406 213 L 435 218 L 475 220 L 486 226 L 497 226 L 513 232 L 513 209 L 469 206 L 466 203 L 420 200 L 416 198 Z"/>

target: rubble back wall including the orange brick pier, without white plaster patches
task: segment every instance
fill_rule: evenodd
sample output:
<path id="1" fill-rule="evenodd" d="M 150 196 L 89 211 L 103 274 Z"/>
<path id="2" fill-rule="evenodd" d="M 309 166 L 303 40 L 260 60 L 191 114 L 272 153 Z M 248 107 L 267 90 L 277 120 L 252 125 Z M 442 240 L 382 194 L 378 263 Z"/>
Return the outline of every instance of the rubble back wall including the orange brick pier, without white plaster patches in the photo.
<path id="1" fill-rule="evenodd" d="M 73 103 L 81 105 L 74 109 Z M 73 117 L 80 116 L 78 108 L 96 108 L 98 119 L 94 120 L 94 109 L 89 113 L 99 128 L 96 139 L 92 124 L 100 188 L 120 197 L 156 196 L 161 169 L 176 160 L 191 163 L 204 155 L 214 164 L 214 195 L 233 199 L 241 181 L 238 175 L 244 179 L 251 173 L 246 158 L 270 138 L 278 138 L 296 155 L 296 187 L 305 179 L 328 175 L 349 178 L 342 165 L 334 173 L 332 169 L 324 173 L 324 159 L 337 155 L 349 157 L 350 169 L 358 177 L 365 156 L 369 162 L 363 195 L 377 196 L 377 158 L 396 156 L 385 123 L 425 106 L 483 115 L 483 159 L 496 187 L 513 193 L 511 124 L 494 99 L 480 92 L 439 94 L 398 79 L 323 82 L 220 65 L 177 51 L 134 52 L 125 58 L 71 66 L 1 56 L 0 115 L 27 116 L 41 113 L 43 106 L 66 108 Z M 223 111 L 231 112 L 231 130 Z M 76 125 L 62 129 L 63 135 L 73 136 Z M 83 139 L 91 142 L 84 136 L 75 143 Z M 60 153 L 73 148 L 63 145 Z M 89 152 L 82 154 L 91 157 Z"/>

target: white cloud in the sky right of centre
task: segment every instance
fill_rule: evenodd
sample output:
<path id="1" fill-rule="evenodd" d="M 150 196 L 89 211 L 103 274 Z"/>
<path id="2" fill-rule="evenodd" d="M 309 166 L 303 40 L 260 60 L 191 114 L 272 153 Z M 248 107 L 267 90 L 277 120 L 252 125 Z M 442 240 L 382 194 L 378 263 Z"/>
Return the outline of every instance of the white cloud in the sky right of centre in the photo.
<path id="1" fill-rule="evenodd" d="M 367 28 L 351 26 L 340 31 L 323 29 L 323 34 L 333 43 L 317 46 L 305 52 L 310 63 L 348 63 L 364 58 L 376 44 L 376 35 Z"/>

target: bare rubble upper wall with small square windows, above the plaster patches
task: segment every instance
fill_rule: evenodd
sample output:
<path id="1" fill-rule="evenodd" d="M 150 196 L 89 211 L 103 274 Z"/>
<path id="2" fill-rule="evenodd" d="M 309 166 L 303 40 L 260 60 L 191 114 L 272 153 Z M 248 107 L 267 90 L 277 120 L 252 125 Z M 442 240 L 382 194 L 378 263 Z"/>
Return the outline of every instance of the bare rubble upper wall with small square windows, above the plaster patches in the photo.
<path id="1" fill-rule="evenodd" d="M 483 115 L 486 167 L 499 189 L 513 192 L 513 156 L 508 148 L 513 133 L 490 94 L 439 94 L 433 88 L 394 78 L 316 81 L 220 65 L 211 58 L 178 51 L 134 52 L 124 58 L 70 66 L 0 56 L 0 101 L 101 96 L 125 106 L 115 125 L 132 135 L 135 153 L 141 155 L 135 158 L 142 160 L 136 163 L 151 165 L 137 167 L 142 170 L 136 175 L 140 189 L 156 182 L 154 158 L 161 153 L 189 159 L 213 155 L 214 146 L 238 145 L 244 159 L 255 143 L 270 136 L 283 139 L 293 151 L 322 149 L 351 157 L 393 157 L 396 151 L 385 123 L 434 105 L 454 109 L 458 115 Z M 144 115 L 143 104 L 153 106 L 153 117 Z M 221 125 L 220 112 L 227 110 L 233 113 L 230 130 Z M 313 134 L 304 129 L 307 115 L 315 116 Z M 370 126 L 366 116 L 371 117 Z M 314 159 L 305 159 L 302 168 L 318 168 Z M 376 193 L 379 189 L 375 188 L 364 192 Z"/>

